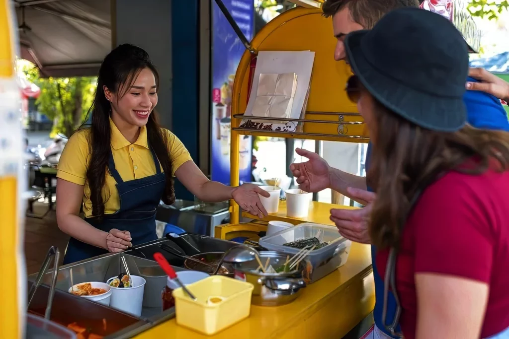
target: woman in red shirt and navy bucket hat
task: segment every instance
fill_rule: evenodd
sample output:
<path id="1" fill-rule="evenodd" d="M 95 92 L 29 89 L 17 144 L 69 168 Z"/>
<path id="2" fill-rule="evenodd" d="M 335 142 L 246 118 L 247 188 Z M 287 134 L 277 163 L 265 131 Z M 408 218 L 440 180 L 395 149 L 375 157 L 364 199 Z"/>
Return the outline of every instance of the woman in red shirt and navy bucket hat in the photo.
<path id="1" fill-rule="evenodd" d="M 370 235 L 405 338 L 509 337 L 509 134 L 466 125 L 465 40 L 395 10 L 345 40 L 373 143 Z M 395 333 L 399 324 L 403 333 Z"/>

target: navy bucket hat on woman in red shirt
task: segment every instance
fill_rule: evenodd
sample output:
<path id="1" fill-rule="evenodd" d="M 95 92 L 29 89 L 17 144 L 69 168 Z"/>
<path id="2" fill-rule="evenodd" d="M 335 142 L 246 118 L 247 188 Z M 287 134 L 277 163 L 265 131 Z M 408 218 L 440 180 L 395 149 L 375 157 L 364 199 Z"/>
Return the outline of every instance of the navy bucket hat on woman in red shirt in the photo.
<path id="1" fill-rule="evenodd" d="M 467 44 L 446 18 L 418 8 L 387 13 L 345 39 L 352 71 L 382 105 L 413 124 L 454 132 L 466 123 Z"/>

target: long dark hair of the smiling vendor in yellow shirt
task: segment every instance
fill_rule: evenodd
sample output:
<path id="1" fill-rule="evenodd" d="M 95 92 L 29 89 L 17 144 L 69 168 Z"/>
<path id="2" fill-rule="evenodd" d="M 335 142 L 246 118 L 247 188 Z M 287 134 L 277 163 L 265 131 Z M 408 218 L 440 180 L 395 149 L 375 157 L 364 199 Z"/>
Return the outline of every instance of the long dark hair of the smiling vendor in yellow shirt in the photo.
<path id="1" fill-rule="evenodd" d="M 149 54 L 134 45 L 122 44 L 109 52 L 102 61 L 97 79 L 94 102 L 88 111 L 92 115 L 90 126 L 83 125 L 80 129 L 90 128 L 88 135 L 90 162 L 87 168 L 87 181 L 90 187 L 92 201 L 92 216 L 104 216 L 104 201 L 102 191 L 106 179 L 106 168 L 111 152 L 111 127 L 109 115 L 111 106 L 104 95 L 106 86 L 117 98 L 126 94 L 127 89 L 136 80 L 143 69 L 148 68 L 154 73 L 156 90 L 159 90 L 159 74 L 150 60 Z M 89 120 L 88 117 L 85 121 Z M 155 110 L 147 122 L 147 138 L 149 146 L 154 149 L 157 159 L 166 177 L 166 188 L 161 200 L 168 205 L 175 202 L 175 191 L 172 177 L 172 162 L 169 157 L 167 134 L 159 124 Z M 158 166 L 158 164 L 156 164 Z"/>

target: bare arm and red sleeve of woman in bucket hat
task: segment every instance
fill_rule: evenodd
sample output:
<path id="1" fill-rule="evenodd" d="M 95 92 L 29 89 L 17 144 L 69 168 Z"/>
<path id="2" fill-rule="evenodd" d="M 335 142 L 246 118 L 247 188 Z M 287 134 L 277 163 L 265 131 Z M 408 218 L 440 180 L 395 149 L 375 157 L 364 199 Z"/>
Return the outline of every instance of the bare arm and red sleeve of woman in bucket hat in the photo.
<path id="1" fill-rule="evenodd" d="M 412 213 L 417 339 L 480 337 L 494 253 L 483 200 L 461 175 L 445 177 Z"/>

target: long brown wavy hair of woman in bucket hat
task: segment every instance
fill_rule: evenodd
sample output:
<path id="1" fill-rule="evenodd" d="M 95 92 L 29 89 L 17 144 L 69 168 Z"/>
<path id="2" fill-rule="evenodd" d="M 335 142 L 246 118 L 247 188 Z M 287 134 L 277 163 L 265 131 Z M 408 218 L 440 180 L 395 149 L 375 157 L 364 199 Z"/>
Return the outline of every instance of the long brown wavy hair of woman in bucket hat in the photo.
<path id="1" fill-rule="evenodd" d="M 446 171 L 472 175 L 488 168 L 505 171 L 509 164 L 509 133 L 466 125 L 454 133 L 420 128 L 375 105 L 378 130 L 373 136 L 367 182 L 377 192 L 369 227 L 372 243 L 398 248 L 402 226 L 419 189 Z"/>

